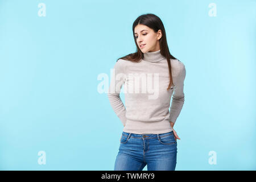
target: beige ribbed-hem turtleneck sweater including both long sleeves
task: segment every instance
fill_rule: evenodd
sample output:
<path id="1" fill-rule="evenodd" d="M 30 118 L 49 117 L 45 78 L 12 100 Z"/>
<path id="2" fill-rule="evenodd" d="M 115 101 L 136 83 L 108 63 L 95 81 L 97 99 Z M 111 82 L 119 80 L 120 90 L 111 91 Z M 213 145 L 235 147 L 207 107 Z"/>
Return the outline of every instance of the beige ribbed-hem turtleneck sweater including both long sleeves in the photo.
<path id="1" fill-rule="evenodd" d="M 108 97 L 115 114 L 123 123 L 123 131 L 135 134 L 172 131 L 170 122 L 176 122 L 184 104 L 186 71 L 181 61 L 170 60 L 174 86 L 168 91 L 168 63 L 160 50 L 144 53 L 139 63 L 123 59 L 115 63 Z M 119 97 L 122 86 L 125 105 Z"/>

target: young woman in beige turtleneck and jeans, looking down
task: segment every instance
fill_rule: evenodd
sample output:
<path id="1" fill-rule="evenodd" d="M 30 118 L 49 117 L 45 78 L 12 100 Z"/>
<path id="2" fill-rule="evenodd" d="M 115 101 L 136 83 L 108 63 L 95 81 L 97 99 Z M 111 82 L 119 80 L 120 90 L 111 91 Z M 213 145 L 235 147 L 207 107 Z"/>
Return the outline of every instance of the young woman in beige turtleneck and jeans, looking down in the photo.
<path id="1" fill-rule="evenodd" d="M 158 16 L 139 16 L 133 34 L 137 52 L 117 60 L 108 93 L 124 126 L 114 170 L 175 170 L 180 138 L 173 127 L 184 104 L 185 66 L 171 55 Z"/>

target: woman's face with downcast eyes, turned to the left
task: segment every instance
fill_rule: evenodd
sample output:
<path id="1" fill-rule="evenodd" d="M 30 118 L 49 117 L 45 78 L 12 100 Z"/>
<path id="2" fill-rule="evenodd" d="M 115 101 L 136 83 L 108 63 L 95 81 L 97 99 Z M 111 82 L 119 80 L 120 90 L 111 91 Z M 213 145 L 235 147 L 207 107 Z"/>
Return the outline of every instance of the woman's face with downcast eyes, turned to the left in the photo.
<path id="1" fill-rule="evenodd" d="M 159 39 L 162 37 L 162 31 L 154 32 L 144 24 L 138 24 L 134 28 L 134 36 L 143 53 L 160 50 Z M 145 44 L 141 47 L 141 44 Z"/>

